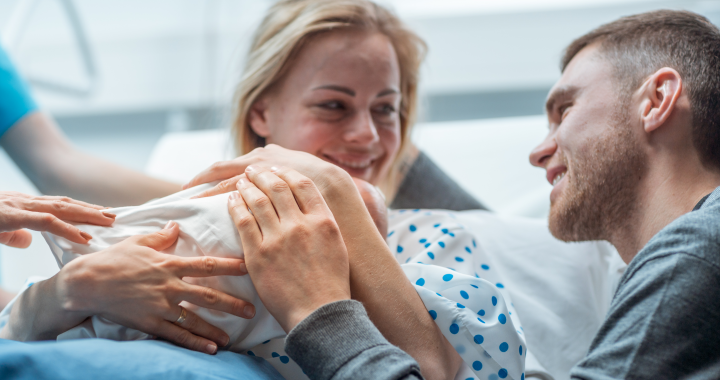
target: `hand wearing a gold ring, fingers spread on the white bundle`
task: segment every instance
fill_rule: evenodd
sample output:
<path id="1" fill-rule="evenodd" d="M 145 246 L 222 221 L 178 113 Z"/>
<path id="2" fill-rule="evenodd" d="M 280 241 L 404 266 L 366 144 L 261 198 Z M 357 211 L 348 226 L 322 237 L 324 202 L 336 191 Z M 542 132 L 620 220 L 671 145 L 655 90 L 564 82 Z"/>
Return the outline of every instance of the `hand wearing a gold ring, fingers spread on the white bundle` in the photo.
<path id="1" fill-rule="evenodd" d="M 255 307 L 182 278 L 244 275 L 244 260 L 158 252 L 172 246 L 179 231 L 177 223 L 169 222 L 159 232 L 128 238 L 68 263 L 58 279 L 64 309 L 98 315 L 192 350 L 217 352 L 229 343 L 228 335 L 189 310 L 184 322 L 174 323 L 183 310 L 180 302 L 242 318 L 252 318 Z"/>

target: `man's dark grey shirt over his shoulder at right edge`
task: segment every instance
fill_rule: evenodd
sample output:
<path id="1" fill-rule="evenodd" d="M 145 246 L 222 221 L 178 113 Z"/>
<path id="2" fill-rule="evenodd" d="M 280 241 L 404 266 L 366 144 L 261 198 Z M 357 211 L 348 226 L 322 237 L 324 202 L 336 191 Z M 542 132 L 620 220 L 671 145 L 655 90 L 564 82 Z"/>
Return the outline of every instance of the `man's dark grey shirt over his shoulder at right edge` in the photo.
<path id="1" fill-rule="evenodd" d="M 720 379 L 720 187 L 620 280 L 575 379 Z"/>

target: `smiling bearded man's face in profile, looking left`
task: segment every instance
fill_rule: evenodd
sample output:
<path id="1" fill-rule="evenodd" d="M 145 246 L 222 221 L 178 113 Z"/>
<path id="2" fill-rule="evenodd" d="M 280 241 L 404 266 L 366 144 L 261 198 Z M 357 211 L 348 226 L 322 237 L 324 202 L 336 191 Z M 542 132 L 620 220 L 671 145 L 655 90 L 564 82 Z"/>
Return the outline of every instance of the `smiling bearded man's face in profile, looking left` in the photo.
<path id="1" fill-rule="evenodd" d="M 565 241 L 608 240 L 635 207 L 645 168 L 640 120 L 601 54 L 588 46 L 566 67 L 548 95 L 548 136 L 530 154 L 553 185 L 550 231 Z"/>

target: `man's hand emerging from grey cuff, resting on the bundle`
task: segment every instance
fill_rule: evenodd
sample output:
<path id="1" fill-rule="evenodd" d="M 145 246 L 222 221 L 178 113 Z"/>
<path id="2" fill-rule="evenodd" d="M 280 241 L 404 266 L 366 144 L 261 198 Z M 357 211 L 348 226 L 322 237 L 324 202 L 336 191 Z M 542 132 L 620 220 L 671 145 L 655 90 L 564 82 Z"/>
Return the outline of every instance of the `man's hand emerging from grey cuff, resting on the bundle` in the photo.
<path id="1" fill-rule="evenodd" d="M 350 299 L 347 250 L 309 178 L 255 165 L 247 172 L 238 179 L 239 193 L 230 194 L 228 208 L 255 289 L 289 332 L 322 305 Z"/>

